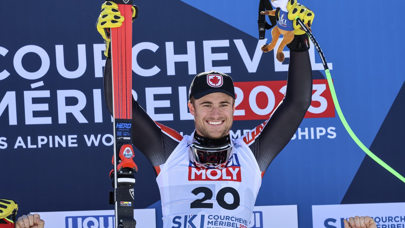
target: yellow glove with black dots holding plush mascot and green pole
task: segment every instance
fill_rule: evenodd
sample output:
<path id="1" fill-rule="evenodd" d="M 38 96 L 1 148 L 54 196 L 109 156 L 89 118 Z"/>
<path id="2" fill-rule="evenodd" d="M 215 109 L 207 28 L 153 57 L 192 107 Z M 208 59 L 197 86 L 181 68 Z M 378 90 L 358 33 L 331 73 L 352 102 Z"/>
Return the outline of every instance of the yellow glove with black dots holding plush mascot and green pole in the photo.
<path id="1" fill-rule="evenodd" d="M 311 25 L 313 22 L 313 18 L 315 17 L 312 10 L 309 8 L 299 4 L 296 0 L 290 0 L 287 4 L 288 10 L 288 19 L 294 20 L 294 35 L 302 35 L 305 31 L 301 28 L 295 18 L 298 16 L 304 24 L 307 25 L 309 30 L 311 31 Z"/>

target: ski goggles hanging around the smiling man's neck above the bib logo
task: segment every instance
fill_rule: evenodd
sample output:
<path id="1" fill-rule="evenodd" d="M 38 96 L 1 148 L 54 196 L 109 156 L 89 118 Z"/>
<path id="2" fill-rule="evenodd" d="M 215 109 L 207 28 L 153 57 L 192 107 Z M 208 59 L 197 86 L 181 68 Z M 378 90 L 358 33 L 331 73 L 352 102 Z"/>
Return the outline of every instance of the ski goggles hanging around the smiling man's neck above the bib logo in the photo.
<path id="1" fill-rule="evenodd" d="M 228 161 L 229 156 L 232 155 L 233 146 L 230 143 L 221 146 L 203 146 L 193 142 L 190 150 L 196 163 L 205 167 L 210 165 L 216 167 Z"/>

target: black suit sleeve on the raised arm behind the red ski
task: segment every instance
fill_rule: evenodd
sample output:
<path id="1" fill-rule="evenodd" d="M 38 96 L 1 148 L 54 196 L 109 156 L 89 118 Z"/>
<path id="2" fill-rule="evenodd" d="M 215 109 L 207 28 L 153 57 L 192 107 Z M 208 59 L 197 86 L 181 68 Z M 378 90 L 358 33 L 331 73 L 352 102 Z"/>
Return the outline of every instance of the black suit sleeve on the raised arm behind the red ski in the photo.
<path id="1" fill-rule="evenodd" d="M 113 113 L 111 59 L 104 68 L 104 97 L 107 109 Z M 157 123 L 132 98 L 132 144 L 143 153 L 153 166 L 162 165 L 181 141 L 175 130 Z"/>

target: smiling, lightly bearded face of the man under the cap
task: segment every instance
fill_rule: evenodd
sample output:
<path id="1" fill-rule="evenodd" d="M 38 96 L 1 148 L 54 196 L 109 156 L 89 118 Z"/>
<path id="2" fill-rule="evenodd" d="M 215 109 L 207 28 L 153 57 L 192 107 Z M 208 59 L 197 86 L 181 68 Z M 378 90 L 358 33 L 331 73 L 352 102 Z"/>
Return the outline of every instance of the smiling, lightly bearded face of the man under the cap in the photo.
<path id="1" fill-rule="evenodd" d="M 196 132 L 201 136 L 218 139 L 229 134 L 235 111 L 234 99 L 221 92 L 211 93 L 188 103 L 194 115 Z"/>

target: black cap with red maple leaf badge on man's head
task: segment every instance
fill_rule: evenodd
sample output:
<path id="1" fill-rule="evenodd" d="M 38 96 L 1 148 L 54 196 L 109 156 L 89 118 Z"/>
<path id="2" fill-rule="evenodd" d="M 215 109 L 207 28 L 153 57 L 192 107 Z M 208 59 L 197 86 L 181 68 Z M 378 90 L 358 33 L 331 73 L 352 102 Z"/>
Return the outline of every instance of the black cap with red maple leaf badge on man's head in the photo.
<path id="1" fill-rule="evenodd" d="M 194 77 L 188 92 L 188 98 L 190 99 L 193 96 L 194 99 L 198 100 L 207 94 L 216 92 L 228 94 L 235 99 L 232 78 L 217 71 L 203 72 Z"/>

